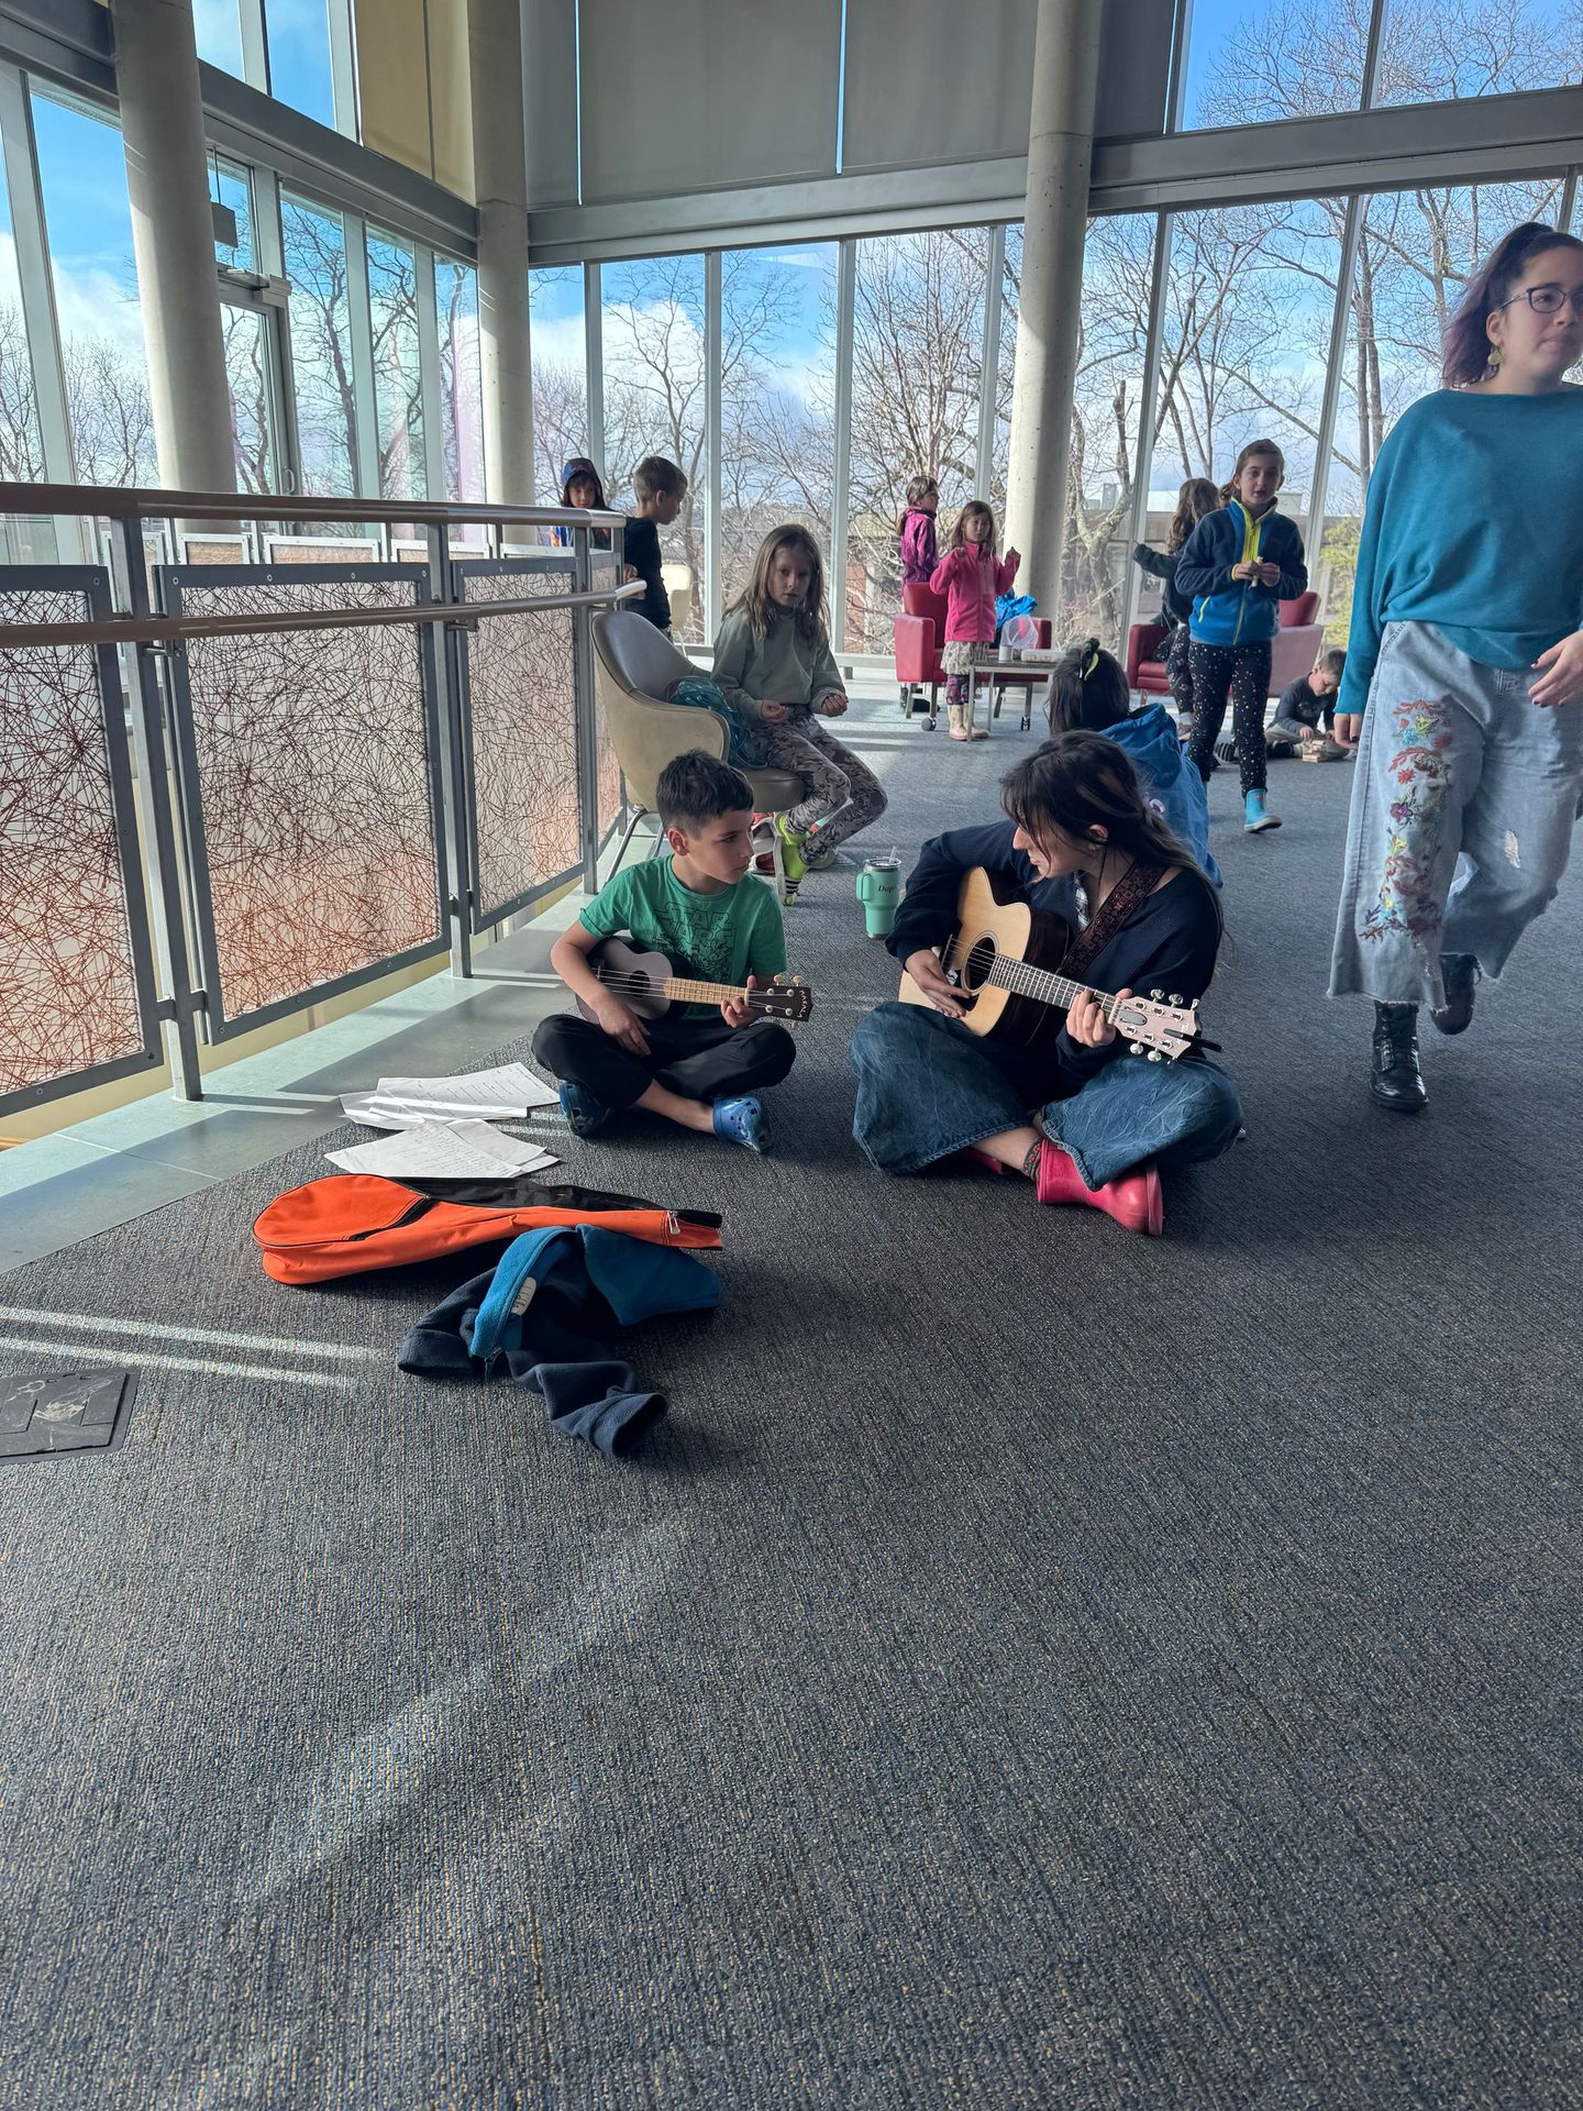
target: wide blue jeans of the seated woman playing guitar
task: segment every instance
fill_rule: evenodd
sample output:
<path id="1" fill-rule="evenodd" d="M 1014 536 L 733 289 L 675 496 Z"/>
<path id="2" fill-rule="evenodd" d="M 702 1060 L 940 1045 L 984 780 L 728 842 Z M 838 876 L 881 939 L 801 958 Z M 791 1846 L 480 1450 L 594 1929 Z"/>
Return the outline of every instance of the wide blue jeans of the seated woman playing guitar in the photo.
<path id="1" fill-rule="evenodd" d="M 1237 1087 L 1212 1062 L 1112 1056 L 1072 1098 L 1051 1100 L 1060 1074 L 1049 1060 L 1003 1051 L 922 1005 L 880 1005 L 859 1020 L 853 1070 L 853 1136 L 886 1174 L 914 1174 L 1019 1129 L 1036 1106 L 1036 1125 L 1098 1188 L 1144 1159 L 1163 1167 L 1216 1159 L 1243 1119 Z"/>

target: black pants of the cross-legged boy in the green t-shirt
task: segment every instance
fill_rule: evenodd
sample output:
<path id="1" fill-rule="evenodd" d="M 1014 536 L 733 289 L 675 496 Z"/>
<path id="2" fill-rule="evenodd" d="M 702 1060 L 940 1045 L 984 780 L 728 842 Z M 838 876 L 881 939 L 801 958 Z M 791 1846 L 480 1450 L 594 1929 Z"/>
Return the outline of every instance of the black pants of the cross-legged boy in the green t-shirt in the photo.
<path id="1" fill-rule="evenodd" d="M 604 1106 L 631 1106 L 656 1081 L 684 1100 L 735 1100 L 779 1085 L 798 1053 L 775 1020 L 732 1028 L 720 1013 L 711 1020 L 667 1013 L 646 1020 L 644 1032 L 648 1056 L 633 1056 L 604 1026 L 559 1011 L 534 1034 L 534 1062 L 583 1085 Z"/>

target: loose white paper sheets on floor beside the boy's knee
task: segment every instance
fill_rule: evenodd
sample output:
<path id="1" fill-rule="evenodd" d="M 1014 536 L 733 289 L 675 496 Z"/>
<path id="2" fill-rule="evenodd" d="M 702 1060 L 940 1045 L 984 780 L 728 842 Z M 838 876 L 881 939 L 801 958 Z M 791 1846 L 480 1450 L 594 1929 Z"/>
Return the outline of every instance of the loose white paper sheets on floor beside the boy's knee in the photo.
<path id="1" fill-rule="evenodd" d="M 555 1106 L 555 1087 L 519 1062 L 462 1077 L 382 1077 L 374 1091 L 342 1093 L 342 1108 L 369 1129 L 395 1129 L 374 1144 L 331 1150 L 348 1174 L 386 1180 L 515 1180 L 557 1161 L 538 1144 L 492 1127 L 523 1121 L 534 1106 Z"/>

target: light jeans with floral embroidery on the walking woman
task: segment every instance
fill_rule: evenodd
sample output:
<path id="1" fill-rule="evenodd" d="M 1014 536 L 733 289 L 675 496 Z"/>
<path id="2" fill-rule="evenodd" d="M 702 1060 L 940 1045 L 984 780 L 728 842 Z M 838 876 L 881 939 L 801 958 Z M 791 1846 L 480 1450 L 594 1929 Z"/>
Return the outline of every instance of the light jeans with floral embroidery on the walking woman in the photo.
<path id="1" fill-rule="evenodd" d="M 1387 623 L 1357 749 L 1330 994 L 1444 1005 L 1439 958 L 1501 973 L 1556 897 L 1583 783 L 1583 705 L 1541 711 L 1429 623 Z"/>

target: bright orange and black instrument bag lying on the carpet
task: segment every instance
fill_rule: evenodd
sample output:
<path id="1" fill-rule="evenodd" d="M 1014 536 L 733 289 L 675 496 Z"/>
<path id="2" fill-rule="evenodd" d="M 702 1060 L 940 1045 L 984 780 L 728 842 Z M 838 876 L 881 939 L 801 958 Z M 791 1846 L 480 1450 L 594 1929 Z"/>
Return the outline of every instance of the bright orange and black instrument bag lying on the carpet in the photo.
<path id="1" fill-rule="evenodd" d="M 654 1245 L 720 1245 L 720 1218 L 709 1210 L 663 1210 L 635 1195 L 526 1178 L 500 1182 L 490 1201 L 479 1199 L 477 1182 L 450 1182 L 466 1191 L 466 1201 L 445 1195 L 445 1186 L 443 1180 L 424 1188 L 380 1174 L 329 1174 L 287 1188 L 253 1220 L 264 1273 L 276 1283 L 327 1283 L 338 1275 L 405 1269 L 469 1245 L 504 1245 L 545 1224 L 604 1224 Z"/>

